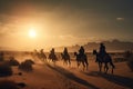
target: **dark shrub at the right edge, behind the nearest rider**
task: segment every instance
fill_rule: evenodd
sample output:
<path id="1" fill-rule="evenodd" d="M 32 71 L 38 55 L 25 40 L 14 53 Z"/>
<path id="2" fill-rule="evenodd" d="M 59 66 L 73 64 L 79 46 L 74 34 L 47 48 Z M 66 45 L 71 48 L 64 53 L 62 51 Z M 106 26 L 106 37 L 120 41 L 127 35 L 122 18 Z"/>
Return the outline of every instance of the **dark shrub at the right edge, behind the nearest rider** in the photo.
<path id="1" fill-rule="evenodd" d="M 133 52 L 132 51 L 125 51 L 124 58 L 127 59 L 127 66 L 133 71 Z"/>

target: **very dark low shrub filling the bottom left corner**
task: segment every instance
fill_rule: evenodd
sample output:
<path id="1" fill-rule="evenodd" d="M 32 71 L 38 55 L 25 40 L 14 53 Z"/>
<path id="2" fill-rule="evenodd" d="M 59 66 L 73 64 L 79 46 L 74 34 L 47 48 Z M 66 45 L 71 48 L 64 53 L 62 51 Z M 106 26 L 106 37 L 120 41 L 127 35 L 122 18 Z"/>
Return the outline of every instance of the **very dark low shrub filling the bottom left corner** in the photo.
<path id="1" fill-rule="evenodd" d="M 14 81 L 11 80 L 1 80 L 0 89 L 20 89 Z"/>

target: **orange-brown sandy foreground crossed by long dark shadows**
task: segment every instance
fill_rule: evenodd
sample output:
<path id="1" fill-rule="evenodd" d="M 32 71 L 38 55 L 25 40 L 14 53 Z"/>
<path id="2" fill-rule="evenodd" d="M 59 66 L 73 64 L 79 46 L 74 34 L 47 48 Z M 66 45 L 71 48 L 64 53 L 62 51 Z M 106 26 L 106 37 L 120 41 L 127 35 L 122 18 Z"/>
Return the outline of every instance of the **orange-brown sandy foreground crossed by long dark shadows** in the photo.
<path id="1" fill-rule="evenodd" d="M 114 75 L 99 72 L 98 65 L 90 61 L 89 70 L 78 69 L 75 61 L 64 66 L 62 61 L 53 63 L 37 63 L 32 72 L 22 72 L 13 67 L 13 76 L 7 78 L 17 82 L 25 82 L 23 89 L 133 89 L 133 72 L 125 62 L 115 63 Z"/>

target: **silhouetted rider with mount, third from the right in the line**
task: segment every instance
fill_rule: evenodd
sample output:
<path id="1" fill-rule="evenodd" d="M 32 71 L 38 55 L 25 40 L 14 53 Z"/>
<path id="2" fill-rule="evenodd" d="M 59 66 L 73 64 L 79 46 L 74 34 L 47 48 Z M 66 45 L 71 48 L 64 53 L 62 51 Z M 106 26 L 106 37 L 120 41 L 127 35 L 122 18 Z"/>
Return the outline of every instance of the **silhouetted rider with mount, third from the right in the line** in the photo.
<path id="1" fill-rule="evenodd" d="M 64 60 L 64 63 L 71 65 L 70 55 L 69 55 L 66 48 L 64 48 L 63 53 L 61 53 L 61 57 L 62 57 L 62 59 Z"/>

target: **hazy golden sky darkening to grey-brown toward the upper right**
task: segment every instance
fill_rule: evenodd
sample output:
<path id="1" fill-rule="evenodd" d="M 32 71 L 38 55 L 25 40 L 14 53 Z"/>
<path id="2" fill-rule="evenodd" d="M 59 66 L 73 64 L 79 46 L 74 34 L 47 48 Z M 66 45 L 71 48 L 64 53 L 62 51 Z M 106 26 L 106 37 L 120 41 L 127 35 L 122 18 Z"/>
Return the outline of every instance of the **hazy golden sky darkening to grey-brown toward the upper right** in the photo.
<path id="1" fill-rule="evenodd" d="M 133 41 L 132 4 L 133 0 L 0 0 L 0 47 L 32 50 Z"/>

